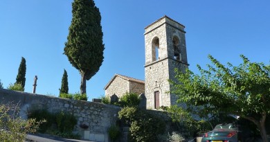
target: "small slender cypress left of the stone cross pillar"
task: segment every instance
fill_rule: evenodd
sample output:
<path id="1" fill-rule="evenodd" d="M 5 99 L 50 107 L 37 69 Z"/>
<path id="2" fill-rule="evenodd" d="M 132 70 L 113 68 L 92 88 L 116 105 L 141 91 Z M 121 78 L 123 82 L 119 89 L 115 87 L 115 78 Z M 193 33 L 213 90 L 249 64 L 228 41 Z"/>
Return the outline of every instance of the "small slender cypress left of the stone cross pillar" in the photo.
<path id="1" fill-rule="evenodd" d="M 18 74 L 15 84 L 21 85 L 24 91 L 24 85 L 26 85 L 26 59 L 21 57 L 21 64 L 19 64 Z"/>

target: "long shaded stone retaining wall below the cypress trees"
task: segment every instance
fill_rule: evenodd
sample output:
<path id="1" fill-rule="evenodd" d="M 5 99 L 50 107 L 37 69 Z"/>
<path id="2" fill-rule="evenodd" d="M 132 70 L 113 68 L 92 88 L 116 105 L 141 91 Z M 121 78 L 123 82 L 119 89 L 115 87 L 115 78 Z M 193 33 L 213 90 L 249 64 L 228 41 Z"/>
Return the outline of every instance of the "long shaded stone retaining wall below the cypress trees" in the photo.
<path id="1" fill-rule="evenodd" d="M 78 119 L 75 132 L 80 133 L 83 139 L 90 141 L 109 141 L 107 130 L 111 125 L 116 125 L 120 111 L 120 107 L 114 105 L 0 89 L 0 104 L 10 102 L 19 103 L 20 116 L 23 118 L 26 118 L 29 109 L 69 112 Z M 89 128 L 83 130 L 80 128 L 81 124 L 88 125 Z"/>

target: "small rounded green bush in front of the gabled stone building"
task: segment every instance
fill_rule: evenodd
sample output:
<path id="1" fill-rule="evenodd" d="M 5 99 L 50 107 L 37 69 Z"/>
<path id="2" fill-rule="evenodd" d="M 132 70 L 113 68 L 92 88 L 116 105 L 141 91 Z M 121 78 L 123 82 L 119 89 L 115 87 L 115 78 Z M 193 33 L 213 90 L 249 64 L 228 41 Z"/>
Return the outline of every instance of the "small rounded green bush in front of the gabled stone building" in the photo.
<path id="1" fill-rule="evenodd" d="M 140 104 L 141 98 L 138 94 L 126 93 L 120 97 L 120 105 L 123 107 L 137 107 Z"/>

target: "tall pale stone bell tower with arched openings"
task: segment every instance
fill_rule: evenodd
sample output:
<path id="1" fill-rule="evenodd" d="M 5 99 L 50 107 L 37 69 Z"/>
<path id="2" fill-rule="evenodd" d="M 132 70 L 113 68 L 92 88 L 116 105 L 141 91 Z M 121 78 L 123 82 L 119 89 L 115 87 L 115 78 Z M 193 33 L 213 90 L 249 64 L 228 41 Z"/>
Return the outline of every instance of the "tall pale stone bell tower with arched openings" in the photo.
<path id="1" fill-rule="evenodd" d="M 145 97 L 147 109 L 175 105 L 168 80 L 174 69 L 188 68 L 185 26 L 166 15 L 145 27 Z"/>

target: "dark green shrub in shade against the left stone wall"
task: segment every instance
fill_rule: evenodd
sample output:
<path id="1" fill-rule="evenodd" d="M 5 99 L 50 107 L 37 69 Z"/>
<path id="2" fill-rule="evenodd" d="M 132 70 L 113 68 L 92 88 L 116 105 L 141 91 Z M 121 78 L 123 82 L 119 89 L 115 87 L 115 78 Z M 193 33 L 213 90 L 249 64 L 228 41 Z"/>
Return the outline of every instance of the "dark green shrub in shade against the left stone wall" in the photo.
<path id="1" fill-rule="evenodd" d="M 40 125 L 39 132 L 67 138 L 78 137 L 78 134 L 72 133 L 74 126 L 77 124 L 77 119 L 71 114 L 64 112 L 54 114 L 48 112 L 46 109 L 33 109 L 28 112 L 28 118 L 35 118 L 37 121 L 46 119 L 46 123 Z"/>

